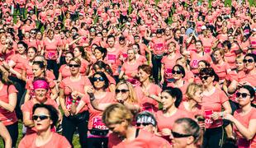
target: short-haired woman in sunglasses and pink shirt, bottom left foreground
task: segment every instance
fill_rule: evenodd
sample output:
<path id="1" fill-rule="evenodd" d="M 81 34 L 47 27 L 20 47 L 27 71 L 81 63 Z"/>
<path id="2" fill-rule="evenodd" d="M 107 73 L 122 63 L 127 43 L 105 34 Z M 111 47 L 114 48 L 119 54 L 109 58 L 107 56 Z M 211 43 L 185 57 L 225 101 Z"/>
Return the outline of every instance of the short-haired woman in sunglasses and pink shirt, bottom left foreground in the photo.
<path id="1" fill-rule="evenodd" d="M 32 110 L 32 120 L 35 123 L 36 133 L 22 138 L 19 148 L 58 147 L 71 148 L 64 136 L 52 132 L 59 121 L 58 110 L 51 104 L 35 104 Z"/>

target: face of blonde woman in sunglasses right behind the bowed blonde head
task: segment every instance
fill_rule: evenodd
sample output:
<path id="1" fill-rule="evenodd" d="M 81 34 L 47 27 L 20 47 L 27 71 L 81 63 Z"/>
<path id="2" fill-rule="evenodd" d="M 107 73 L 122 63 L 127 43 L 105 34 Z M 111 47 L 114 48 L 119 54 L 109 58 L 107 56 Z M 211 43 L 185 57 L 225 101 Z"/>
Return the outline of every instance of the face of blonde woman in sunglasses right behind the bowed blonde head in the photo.
<path id="1" fill-rule="evenodd" d="M 126 101 L 129 97 L 129 88 L 126 84 L 122 84 L 116 88 L 116 99 L 117 101 Z"/>

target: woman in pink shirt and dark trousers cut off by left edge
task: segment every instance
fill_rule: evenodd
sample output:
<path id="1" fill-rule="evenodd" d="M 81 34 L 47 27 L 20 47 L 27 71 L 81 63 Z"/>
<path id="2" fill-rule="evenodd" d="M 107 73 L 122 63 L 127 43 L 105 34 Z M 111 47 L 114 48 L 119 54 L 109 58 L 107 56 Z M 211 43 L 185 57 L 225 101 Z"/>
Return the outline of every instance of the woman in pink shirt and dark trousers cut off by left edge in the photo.
<path id="1" fill-rule="evenodd" d="M 0 72 L 0 121 L 7 127 L 12 137 L 12 147 L 16 146 L 18 137 L 18 122 L 15 113 L 17 105 L 17 90 L 7 75 Z"/>

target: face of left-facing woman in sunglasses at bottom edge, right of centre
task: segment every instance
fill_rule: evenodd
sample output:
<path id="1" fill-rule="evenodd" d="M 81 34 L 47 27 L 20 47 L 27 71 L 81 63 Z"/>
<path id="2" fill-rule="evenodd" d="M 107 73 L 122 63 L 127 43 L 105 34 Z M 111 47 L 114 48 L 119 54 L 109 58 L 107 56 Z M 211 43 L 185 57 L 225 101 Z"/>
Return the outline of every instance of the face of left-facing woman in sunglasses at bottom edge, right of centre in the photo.
<path id="1" fill-rule="evenodd" d="M 183 130 L 183 126 L 180 125 L 180 124 L 177 124 L 177 123 L 174 123 L 173 124 L 173 129 L 172 129 L 172 132 L 173 133 L 179 133 L 179 134 L 182 134 L 182 135 L 187 135 L 184 130 Z M 171 134 L 170 135 L 170 139 L 172 140 L 172 143 L 173 143 L 173 148 L 185 148 L 187 147 L 187 137 L 174 137 L 175 135 L 174 134 Z"/>

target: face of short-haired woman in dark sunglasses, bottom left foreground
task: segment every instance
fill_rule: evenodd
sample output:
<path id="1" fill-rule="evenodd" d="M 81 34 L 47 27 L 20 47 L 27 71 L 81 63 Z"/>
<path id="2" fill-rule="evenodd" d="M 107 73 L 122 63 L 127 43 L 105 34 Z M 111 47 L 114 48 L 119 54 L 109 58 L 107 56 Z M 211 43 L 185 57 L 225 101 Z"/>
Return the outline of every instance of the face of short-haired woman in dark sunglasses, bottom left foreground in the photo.
<path id="1" fill-rule="evenodd" d="M 53 123 L 50 119 L 50 113 L 45 108 L 37 108 L 35 110 L 35 113 L 33 114 L 33 117 L 37 117 L 37 119 L 34 120 L 36 130 L 38 132 L 46 131 L 50 128 L 50 125 Z M 38 117 L 44 118 L 40 119 Z"/>

